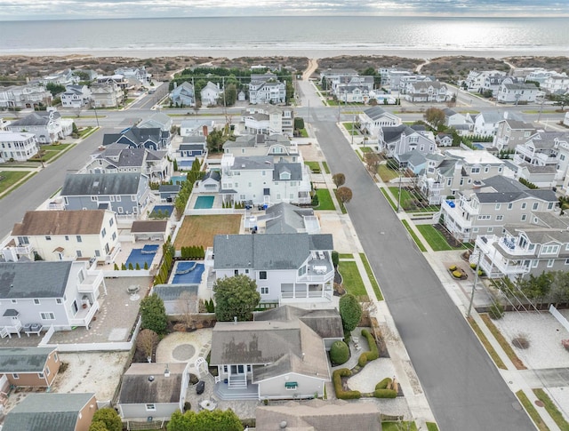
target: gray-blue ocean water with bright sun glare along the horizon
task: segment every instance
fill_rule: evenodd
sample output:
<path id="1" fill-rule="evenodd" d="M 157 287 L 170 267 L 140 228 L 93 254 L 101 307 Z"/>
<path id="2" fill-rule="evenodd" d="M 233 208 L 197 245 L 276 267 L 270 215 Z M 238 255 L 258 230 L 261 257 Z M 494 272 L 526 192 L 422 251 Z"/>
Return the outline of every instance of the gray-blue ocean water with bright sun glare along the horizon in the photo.
<path id="1" fill-rule="evenodd" d="M 569 52 L 567 18 L 235 17 L 0 22 L 0 54 Z M 326 53 L 328 52 L 328 53 Z M 322 55 L 320 55 L 322 56 Z"/>

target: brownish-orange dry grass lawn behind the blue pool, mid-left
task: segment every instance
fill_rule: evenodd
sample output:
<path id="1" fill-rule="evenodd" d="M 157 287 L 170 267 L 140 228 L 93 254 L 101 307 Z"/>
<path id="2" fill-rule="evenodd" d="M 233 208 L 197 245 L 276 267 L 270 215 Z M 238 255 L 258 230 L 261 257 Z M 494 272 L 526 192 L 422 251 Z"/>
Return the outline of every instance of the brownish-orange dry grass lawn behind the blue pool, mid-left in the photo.
<path id="1" fill-rule="evenodd" d="M 213 236 L 220 234 L 238 234 L 241 215 L 186 216 L 182 223 L 174 247 L 203 245 L 204 249 L 213 246 Z"/>

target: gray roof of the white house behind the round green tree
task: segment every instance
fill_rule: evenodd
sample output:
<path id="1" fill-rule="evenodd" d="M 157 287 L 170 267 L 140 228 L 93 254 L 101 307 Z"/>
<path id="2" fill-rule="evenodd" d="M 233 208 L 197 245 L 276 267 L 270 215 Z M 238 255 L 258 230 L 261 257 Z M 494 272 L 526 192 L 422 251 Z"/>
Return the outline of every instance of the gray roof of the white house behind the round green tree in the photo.
<path id="1" fill-rule="evenodd" d="M 298 269 L 310 251 L 333 250 L 330 234 L 216 235 L 215 269 Z"/>

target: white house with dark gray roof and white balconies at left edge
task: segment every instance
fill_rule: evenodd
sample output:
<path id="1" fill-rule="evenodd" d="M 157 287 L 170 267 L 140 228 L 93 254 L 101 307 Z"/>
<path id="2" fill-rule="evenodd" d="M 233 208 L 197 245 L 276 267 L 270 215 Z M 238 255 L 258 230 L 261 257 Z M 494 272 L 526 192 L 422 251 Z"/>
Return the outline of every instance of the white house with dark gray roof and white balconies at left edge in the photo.
<path id="1" fill-rule="evenodd" d="M 89 328 L 101 286 L 102 271 L 86 260 L 0 262 L 0 336 Z"/>

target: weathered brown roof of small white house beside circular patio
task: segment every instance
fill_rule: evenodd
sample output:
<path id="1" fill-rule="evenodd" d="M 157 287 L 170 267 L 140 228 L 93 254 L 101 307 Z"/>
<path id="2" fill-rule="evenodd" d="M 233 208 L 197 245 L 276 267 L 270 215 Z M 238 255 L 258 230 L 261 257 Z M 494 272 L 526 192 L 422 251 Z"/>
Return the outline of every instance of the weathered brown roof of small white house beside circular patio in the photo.
<path id="1" fill-rule="evenodd" d="M 132 363 L 123 375 L 118 404 L 180 403 L 187 363 Z M 164 370 L 170 376 L 164 377 Z"/>

